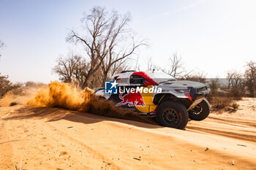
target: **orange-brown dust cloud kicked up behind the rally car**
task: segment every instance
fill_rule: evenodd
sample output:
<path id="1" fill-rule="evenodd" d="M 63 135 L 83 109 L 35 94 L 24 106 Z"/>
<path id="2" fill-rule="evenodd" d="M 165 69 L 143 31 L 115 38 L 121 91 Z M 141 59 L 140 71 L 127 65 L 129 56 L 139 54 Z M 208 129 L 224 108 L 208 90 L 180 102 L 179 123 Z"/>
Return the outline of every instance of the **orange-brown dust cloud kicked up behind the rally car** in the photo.
<path id="1" fill-rule="evenodd" d="M 17 104 L 38 107 L 59 107 L 79 112 L 89 112 L 94 115 L 154 123 L 148 117 L 118 108 L 111 102 L 100 99 L 94 95 L 94 90 L 90 88 L 81 90 L 75 88 L 72 84 L 56 81 L 50 82 L 48 86 L 42 86 L 39 89 L 29 88 L 24 91 L 23 96 L 15 96 L 12 92 L 7 93 L 1 99 L 0 105 L 7 107 L 16 102 Z"/>

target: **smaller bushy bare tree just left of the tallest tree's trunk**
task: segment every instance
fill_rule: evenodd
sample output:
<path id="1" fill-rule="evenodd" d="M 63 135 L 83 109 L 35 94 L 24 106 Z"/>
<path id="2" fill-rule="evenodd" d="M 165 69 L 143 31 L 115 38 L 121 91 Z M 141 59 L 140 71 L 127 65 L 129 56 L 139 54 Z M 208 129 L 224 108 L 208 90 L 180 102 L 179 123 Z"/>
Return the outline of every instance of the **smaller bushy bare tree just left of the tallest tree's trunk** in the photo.
<path id="1" fill-rule="evenodd" d="M 60 56 L 57 59 L 53 73 L 58 74 L 62 82 L 72 82 L 75 79 L 78 86 L 82 86 L 88 74 L 88 68 L 88 63 L 84 58 L 70 52 L 67 57 Z"/>

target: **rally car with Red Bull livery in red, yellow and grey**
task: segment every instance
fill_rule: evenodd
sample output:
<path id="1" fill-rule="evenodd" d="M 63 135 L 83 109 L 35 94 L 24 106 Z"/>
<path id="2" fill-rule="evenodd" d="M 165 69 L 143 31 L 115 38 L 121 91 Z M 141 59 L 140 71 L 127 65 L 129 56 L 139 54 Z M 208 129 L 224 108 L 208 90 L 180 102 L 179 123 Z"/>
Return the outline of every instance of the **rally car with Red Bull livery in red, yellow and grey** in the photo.
<path id="1" fill-rule="evenodd" d="M 107 89 L 108 84 L 110 86 Z M 189 118 L 204 120 L 210 113 L 205 84 L 176 78 L 165 72 L 124 71 L 114 74 L 105 88 L 95 89 L 100 98 L 117 107 L 155 116 L 159 125 L 183 129 Z"/>

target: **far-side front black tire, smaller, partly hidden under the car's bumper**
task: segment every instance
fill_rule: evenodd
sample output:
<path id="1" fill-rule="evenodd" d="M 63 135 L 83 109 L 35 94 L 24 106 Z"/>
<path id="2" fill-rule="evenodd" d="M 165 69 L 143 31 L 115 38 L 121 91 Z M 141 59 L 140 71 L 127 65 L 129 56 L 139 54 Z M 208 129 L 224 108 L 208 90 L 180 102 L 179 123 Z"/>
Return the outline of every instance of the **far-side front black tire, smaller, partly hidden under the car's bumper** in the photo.
<path id="1" fill-rule="evenodd" d="M 203 101 L 197 104 L 197 106 L 189 110 L 189 118 L 191 120 L 200 121 L 208 117 L 209 113 L 210 113 L 210 104 L 205 98 L 203 99 Z"/>

